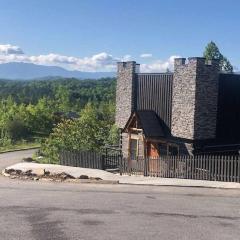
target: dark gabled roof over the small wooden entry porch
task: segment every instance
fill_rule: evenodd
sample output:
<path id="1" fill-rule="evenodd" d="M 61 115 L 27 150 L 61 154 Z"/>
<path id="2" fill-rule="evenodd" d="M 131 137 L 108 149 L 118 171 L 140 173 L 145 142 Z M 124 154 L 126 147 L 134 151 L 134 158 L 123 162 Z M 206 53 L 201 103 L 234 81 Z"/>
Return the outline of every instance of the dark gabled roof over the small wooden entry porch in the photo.
<path id="1" fill-rule="evenodd" d="M 133 121 L 138 121 L 138 128 L 143 130 L 143 134 L 147 138 L 166 137 L 164 125 L 154 111 L 141 110 L 133 112 L 130 116 L 123 132 L 127 132 Z"/>

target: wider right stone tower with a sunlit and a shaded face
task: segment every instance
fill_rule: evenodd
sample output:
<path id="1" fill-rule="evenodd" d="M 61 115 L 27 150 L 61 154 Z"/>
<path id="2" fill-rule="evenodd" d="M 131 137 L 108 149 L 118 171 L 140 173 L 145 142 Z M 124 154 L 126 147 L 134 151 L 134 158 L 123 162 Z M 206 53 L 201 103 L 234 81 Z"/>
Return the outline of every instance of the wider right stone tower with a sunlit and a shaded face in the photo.
<path id="1" fill-rule="evenodd" d="M 201 140 L 216 137 L 219 62 L 177 58 L 174 63 L 172 126 L 175 137 Z"/>

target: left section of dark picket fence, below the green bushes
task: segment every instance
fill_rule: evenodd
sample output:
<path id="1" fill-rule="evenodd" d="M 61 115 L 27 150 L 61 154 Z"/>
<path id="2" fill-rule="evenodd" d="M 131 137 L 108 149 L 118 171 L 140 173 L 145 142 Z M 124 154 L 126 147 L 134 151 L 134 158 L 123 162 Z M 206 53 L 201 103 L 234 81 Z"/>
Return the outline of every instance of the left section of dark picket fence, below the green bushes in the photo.
<path id="1" fill-rule="evenodd" d="M 122 159 L 121 151 L 107 148 L 103 152 L 94 151 L 62 151 L 60 165 L 94 168 L 102 170 L 118 169 Z"/>

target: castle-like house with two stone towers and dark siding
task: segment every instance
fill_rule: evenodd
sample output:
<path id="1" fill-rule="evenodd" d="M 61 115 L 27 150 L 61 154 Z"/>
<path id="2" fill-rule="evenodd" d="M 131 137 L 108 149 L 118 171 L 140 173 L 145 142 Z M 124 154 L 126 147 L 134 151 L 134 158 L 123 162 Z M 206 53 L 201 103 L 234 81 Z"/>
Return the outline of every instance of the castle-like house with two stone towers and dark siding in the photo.
<path id="1" fill-rule="evenodd" d="M 240 75 L 219 62 L 177 58 L 173 73 L 139 73 L 119 62 L 116 124 L 124 156 L 237 153 Z"/>

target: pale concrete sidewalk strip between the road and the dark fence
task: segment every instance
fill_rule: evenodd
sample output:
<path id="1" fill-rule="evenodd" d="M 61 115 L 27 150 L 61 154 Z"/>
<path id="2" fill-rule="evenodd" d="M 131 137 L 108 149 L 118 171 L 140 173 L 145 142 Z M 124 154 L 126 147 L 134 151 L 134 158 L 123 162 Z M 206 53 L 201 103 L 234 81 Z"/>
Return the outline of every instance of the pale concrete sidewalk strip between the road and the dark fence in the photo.
<path id="1" fill-rule="evenodd" d="M 215 188 L 215 189 L 239 189 L 240 183 L 235 182 L 219 182 L 219 181 L 204 181 L 191 179 L 175 179 L 175 178 L 153 178 L 143 176 L 120 176 L 118 174 L 109 173 L 99 169 L 77 168 L 71 166 L 39 164 L 39 163 L 17 163 L 9 166 L 6 169 L 15 169 L 16 171 L 32 171 L 39 175 L 39 170 L 50 172 L 52 174 L 68 174 L 75 179 L 65 179 L 64 182 L 72 183 L 92 183 L 92 184 L 122 184 L 122 185 L 139 185 L 139 186 L 160 186 L 160 187 L 191 187 L 191 188 Z M 10 172 L 3 170 L 2 174 L 7 175 Z M 81 177 L 86 175 L 85 177 Z M 42 178 L 44 179 L 44 177 Z M 47 181 L 44 179 L 43 181 Z"/>

